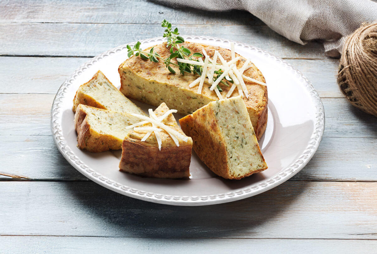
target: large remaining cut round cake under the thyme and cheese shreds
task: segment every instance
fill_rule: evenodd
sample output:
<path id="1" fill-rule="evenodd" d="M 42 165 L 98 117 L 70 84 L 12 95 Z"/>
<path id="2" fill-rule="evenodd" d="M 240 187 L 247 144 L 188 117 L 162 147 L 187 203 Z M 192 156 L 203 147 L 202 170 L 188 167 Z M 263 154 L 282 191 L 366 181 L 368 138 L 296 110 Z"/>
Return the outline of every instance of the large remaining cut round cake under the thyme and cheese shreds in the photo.
<path id="1" fill-rule="evenodd" d="M 190 49 L 192 53 L 202 53 L 204 49 L 206 54 L 211 58 L 213 58 L 217 50 L 226 61 L 231 59 L 231 51 L 228 49 L 191 42 L 184 42 L 180 45 Z M 167 58 L 171 54 L 169 48 L 166 48 L 166 42 L 153 48 L 154 52 L 158 52 L 163 58 Z M 149 51 L 149 49 L 144 49 L 144 51 Z M 246 59 L 238 54 L 235 55 L 240 57 L 236 62 L 237 68 L 242 68 Z M 176 58 L 173 58 L 171 61 L 177 63 Z M 220 63 L 219 60 L 217 62 Z M 175 69 L 177 74 L 170 73 L 161 60 L 155 63 L 134 55 L 123 62 L 118 68 L 121 77 L 120 91 L 130 99 L 154 106 L 165 102 L 169 108 L 177 109 L 178 113 L 183 115 L 191 114 L 196 109 L 218 99 L 216 93 L 210 91 L 210 85 L 207 81 L 204 82 L 201 94 L 198 94 L 198 88 L 189 88 L 189 85 L 198 78 L 197 74 L 185 73 L 185 75 L 181 75 L 179 74 L 178 67 L 172 66 L 172 68 Z M 265 83 L 261 71 L 252 63 L 251 67 L 244 72 L 244 75 Z M 267 126 L 267 86 L 247 79 L 244 79 L 244 82 L 249 97 L 244 97 L 243 100 L 257 139 L 259 139 Z M 223 90 L 222 94 L 226 94 L 230 89 L 230 87 L 225 85 L 222 85 L 221 88 Z M 238 95 L 236 89 L 232 96 Z"/>

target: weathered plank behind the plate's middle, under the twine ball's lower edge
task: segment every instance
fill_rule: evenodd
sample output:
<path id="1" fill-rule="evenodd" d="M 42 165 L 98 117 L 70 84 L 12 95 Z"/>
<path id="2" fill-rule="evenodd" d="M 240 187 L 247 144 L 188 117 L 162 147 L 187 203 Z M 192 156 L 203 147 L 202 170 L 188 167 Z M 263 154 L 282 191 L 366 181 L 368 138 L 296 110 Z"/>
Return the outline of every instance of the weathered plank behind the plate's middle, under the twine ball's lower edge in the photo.
<path id="1" fill-rule="evenodd" d="M 0 94 L 0 135 L 50 135 L 54 96 Z M 324 137 L 377 137 L 376 117 L 355 109 L 344 98 L 324 98 L 322 102 L 326 116 Z"/>

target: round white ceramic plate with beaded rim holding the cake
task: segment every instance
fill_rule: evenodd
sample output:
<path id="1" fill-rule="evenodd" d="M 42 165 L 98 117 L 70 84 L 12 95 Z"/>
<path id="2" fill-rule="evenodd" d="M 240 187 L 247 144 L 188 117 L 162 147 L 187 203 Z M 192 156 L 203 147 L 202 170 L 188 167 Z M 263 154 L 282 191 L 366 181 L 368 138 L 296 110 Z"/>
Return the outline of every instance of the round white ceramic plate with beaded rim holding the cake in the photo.
<path id="1" fill-rule="evenodd" d="M 141 48 L 164 40 L 162 37 L 143 40 Z M 187 36 L 185 40 L 230 48 L 229 40 L 219 38 Z M 319 146 L 324 129 L 322 102 L 311 83 L 284 60 L 244 43 L 234 42 L 234 46 L 238 54 L 249 58 L 262 71 L 267 82 L 268 124 L 260 140 L 267 170 L 242 180 L 225 180 L 213 174 L 193 152 L 189 180 L 150 179 L 120 172 L 121 151 L 96 154 L 78 149 L 72 112 L 75 92 L 98 69 L 119 88 L 118 66 L 127 58 L 126 45 L 94 57 L 61 85 L 51 109 L 51 128 L 59 151 L 79 172 L 108 189 L 170 205 L 231 202 L 285 182 L 308 163 Z M 136 104 L 145 110 L 153 108 Z M 176 115 L 177 120 L 180 117 Z"/>

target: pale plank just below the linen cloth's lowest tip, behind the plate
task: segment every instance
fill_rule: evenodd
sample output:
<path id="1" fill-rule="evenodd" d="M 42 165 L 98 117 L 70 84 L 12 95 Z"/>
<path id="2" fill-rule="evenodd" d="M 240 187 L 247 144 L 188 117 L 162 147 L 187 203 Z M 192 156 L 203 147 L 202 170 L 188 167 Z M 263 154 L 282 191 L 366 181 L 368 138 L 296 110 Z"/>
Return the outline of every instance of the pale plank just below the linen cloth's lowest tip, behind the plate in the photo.
<path id="1" fill-rule="evenodd" d="M 0 93 L 55 94 L 60 85 L 90 58 L 81 57 L 0 57 L 3 83 Z M 344 97 L 336 83 L 338 60 L 287 60 L 313 83 L 320 97 Z M 27 65 L 20 71 L 20 66 Z"/>

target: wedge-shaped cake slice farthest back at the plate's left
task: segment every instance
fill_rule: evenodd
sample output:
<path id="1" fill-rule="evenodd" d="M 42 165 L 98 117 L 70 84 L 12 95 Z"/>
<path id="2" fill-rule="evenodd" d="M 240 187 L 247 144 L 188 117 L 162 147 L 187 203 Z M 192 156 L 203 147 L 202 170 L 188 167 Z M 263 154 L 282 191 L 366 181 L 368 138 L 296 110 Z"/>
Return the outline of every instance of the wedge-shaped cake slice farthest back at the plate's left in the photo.
<path id="1" fill-rule="evenodd" d="M 95 108 L 126 113 L 145 114 L 138 106 L 127 99 L 101 72 L 97 71 L 91 80 L 81 85 L 73 100 L 73 111 L 79 104 Z"/>

